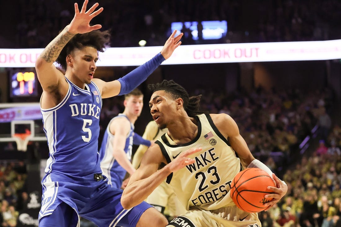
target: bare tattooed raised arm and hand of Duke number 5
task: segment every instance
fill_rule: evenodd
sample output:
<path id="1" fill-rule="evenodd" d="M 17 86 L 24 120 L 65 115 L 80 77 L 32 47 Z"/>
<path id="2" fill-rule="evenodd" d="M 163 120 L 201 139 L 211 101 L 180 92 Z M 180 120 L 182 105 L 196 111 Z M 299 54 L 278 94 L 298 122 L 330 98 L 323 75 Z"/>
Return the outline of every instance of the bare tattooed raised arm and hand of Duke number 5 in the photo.
<path id="1" fill-rule="evenodd" d="M 101 25 L 90 26 L 89 23 L 92 18 L 103 11 L 103 8 L 101 7 L 97 11 L 94 11 L 98 6 L 98 3 L 95 3 L 86 12 L 87 3 L 88 0 L 85 0 L 80 12 L 78 10 L 78 4 L 75 3 L 75 16 L 70 25 L 66 26 L 64 30 L 45 47 L 35 63 L 38 80 L 44 91 L 56 92 L 56 88 L 59 88 L 61 81 L 64 81 L 63 74 L 56 69 L 53 63 L 70 39 L 77 33 L 86 33 L 102 27 Z M 67 84 L 64 83 L 64 86 L 67 86 Z"/>

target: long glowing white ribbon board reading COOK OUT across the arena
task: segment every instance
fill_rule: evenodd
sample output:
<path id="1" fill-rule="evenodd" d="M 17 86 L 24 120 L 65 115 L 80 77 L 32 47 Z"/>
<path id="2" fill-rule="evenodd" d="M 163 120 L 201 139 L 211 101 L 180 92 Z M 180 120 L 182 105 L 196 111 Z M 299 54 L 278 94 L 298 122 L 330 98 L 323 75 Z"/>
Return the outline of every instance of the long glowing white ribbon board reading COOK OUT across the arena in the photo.
<path id="1" fill-rule="evenodd" d="M 162 47 L 107 48 L 97 66 L 137 66 Z M 34 67 L 43 49 L 0 49 L 0 67 Z M 163 65 L 341 59 L 341 40 L 181 45 Z"/>

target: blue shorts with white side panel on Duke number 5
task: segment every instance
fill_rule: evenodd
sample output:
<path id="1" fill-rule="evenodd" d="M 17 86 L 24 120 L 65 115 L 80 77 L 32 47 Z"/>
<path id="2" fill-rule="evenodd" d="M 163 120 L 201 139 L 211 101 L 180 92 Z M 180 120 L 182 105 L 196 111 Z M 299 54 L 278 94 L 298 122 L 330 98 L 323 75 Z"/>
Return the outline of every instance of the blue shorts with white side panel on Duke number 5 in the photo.
<path id="1" fill-rule="evenodd" d="M 143 212 L 152 207 L 142 202 L 124 210 L 120 201 L 123 191 L 112 188 L 105 177 L 101 181 L 94 181 L 93 176 L 82 182 L 69 180 L 53 174 L 43 179 L 39 227 L 79 226 L 79 216 L 98 227 L 135 227 Z"/>

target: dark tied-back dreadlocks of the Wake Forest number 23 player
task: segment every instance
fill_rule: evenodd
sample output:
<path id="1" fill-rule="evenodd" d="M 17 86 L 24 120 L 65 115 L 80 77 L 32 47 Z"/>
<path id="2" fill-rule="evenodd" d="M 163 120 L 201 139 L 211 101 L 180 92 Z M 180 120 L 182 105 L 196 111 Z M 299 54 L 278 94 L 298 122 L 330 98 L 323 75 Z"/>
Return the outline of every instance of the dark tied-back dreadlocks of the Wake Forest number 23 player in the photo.
<path id="1" fill-rule="evenodd" d="M 149 84 L 148 88 L 152 92 L 164 90 L 169 93 L 172 98 L 182 98 L 183 109 L 186 111 L 189 117 L 194 117 L 198 114 L 208 113 L 207 111 L 201 111 L 200 98 L 202 95 L 189 97 L 185 88 L 175 83 L 173 80 L 163 80 L 161 83 Z"/>

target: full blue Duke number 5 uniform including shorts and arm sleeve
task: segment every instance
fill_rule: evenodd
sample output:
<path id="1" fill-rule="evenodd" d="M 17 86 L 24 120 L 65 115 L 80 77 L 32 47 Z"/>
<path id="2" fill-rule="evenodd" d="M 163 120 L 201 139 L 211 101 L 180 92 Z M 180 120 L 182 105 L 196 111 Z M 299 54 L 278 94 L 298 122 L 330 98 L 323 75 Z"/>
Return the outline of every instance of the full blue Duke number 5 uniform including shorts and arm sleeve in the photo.
<path id="1" fill-rule="evenodd" d="M 120 78 L 120 94 L 132 91 L 163 60 L 159 53 Z M 101 174 L 98 152 L 100 91 L 93 82 L 80 89 L 65 80 L 69 89 L 63 100 L 54 108 L 41 109 L 50 153 L 42 180 L 39 226 L 49 227 L 51 223 L 57 223 L 57 226 L 63 220 L 68 226 L 79 226 L 81 216 L 97 226 L 135 227 L 143 212 L 151 206 L 142 202 L 124 210 L 120 203 L 122 190 L 111 187 Z M 72 214 L 70 210 L 75 212 Z"/>

